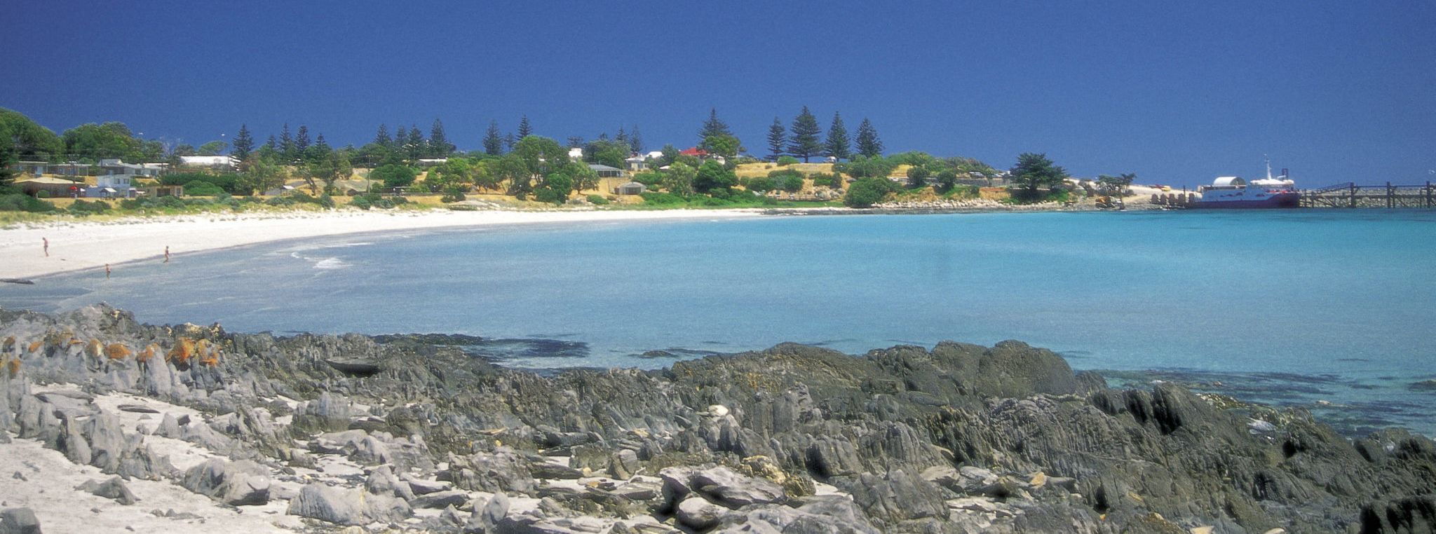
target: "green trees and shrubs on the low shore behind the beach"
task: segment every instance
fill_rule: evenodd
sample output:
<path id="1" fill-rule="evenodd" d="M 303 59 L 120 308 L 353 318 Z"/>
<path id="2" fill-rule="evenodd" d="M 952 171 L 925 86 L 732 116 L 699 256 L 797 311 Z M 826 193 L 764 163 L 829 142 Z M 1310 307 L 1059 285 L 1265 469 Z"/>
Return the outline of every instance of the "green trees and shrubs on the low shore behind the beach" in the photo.
<path id="1" fill-rule="evenodd" d="M 643 152 L 646 146 L 638 125 L 619 128 L 612 136 L 567 136 L 566 142 L 559 142 L 534 134 L 527 116 L 510 134 L 491 121 L 482 148 L 470 152 L 449 142 L 439 119 L 434 119 L 428 135 L 414 123 L 399 125 L 392 132 L 389 125 L 381 123 L 373 139 L 362 146 L 333 146 L 322 132 L 312 135 L 303 123 L 296 129 L 284 123 L 277 135 L 267 135 L 263 142 L 256 138 L 247 123 L 240 125 L 230 142 L 210 141 L 200 146 L 145 139 L 119 122 L 85 123 L 56 135 L 19 112 L 0 109 L 0 211 L 148 214 L 152 210 L 250 210 L 256 204 L 465 208 L 460 204 L 475 200 L 513 207 L 606 210 L 863 208 L 978 198 L 981 187 L 1007 188 L 1008 201 L 1018 204 L 1064 201 L 1093 191 L 1091 185 L 1068 185 L 1067 172 L 1043 154 L 1022 154 L 1008 171 L 974 158 L 939 158 L 919 151 L 883 155 L 883 144 L 867 118 L 862 119 L 856 136 L 850 136 L 841 112 L 834 112 L 824 135 L 807 106 L 788 123 L 774 118 L 765 138 L 768 154 L 761 159 L 748 154 L 717 109 L 709 111 L 696 131 L 695 145 L 686 151 L 665 144 L 659 151 Z M 187 159 L 191 156 L 211 159 L 191 164 Z M 813 162 L 813 158 L 824 161 Z M 80 201 L 59 198 L 62 195 L 50 189 L 22 194 L 14 184 L 26 172 L 20 162 L 30 162 L 32 169 L 36 164 L 75 164 L 69 175 L 60 178 L 73 179 L 78 188 L 93 187 L 99 175 L 109 172 L 98 164 L 113 159 L 162 164 L 164 171 L 157 177 L 136 175 L 135 185 L 182 185 L 185 198 Z M 1122 189 L 1132 178 L 1127 174 L 1103 175 L 1091 184 L 1103 191 Z M 629 181 L 642 184 L 646 191 L 617 194 L 617 185 Z M 425 200 L 428 197 L 432 201 Z M 237 202 L 237 198 L 263 201 Z M 14 215 L 0 217 L 16 220 Z"/>

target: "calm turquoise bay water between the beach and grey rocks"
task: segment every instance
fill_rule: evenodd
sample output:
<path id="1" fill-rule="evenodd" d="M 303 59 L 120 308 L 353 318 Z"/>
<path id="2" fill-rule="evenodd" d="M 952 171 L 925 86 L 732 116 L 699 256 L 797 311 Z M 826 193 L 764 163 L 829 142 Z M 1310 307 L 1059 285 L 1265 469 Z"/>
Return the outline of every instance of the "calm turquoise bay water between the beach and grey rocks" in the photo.
<path id="1" fill-rule="evenodd" d="M 108 281 L 46 277 L 4 287 L 0 306 L 464 333 L 521 367 L 1020 339 L 1077 369 L 1150 370 L 1122 376 L 1313 408 L 1346 431 L 1436 434 L 1436 392 L 1412 388 L 1436 378 L 1433 260 L 1423 210 L 771 217 L 287 241 Z"/>

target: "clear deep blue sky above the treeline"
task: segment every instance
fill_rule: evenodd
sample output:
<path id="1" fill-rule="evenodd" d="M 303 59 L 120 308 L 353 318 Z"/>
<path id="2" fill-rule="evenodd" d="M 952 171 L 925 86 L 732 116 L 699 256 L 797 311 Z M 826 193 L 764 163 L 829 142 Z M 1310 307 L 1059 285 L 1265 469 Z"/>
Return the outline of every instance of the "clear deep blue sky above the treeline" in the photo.
<path id="1" fill-rule="evenodd" d="M 192 145 L 247 123 L 362 145 L 435 118 L 696 142 L 712 108 L 869 118 L 889 152 L 1199 185 L 1436 179 L 1432 1 L 6 1 L 0 108 Z"/>

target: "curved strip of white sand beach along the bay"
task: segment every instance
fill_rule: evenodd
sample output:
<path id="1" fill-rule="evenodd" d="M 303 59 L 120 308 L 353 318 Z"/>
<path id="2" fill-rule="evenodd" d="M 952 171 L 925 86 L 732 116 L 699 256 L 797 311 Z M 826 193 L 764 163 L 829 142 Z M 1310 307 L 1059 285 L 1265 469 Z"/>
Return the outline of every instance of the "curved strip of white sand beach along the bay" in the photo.
<path id="1" fill-rule="evenodd" d="M 0 230 L 0 278 L 32 278 L 103 268 L 135 260 L 256 243 L 340 234 L 501 224 L 586 224 L 600 221 L 718 220 L 757 217 L 757 210 L 658 211 L 358 211 L 205 214 L 116 221 L 17 224 Z M 49 256 L 45 253 L 49 240 Z"/>

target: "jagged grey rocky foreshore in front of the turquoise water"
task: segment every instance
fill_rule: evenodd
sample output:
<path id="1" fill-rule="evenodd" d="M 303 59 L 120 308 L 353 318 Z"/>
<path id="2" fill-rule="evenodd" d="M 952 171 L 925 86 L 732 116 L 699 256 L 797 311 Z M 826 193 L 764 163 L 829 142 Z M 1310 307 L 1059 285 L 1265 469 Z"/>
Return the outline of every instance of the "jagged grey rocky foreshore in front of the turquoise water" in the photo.
<path id="1" fill-rule="evenodd" d="M 0 465 L 16 465 L 0 472 L 0 533 L 1436 524 L 1425 436 L 1350 441 L 1300 411 L 1110 389 L 1020 342 L 860 357 L 780 345 L 540 376 L 442 336 L 234 334 L 103 304 L 0 310 Z M 155 508 L 175 492 L 214 511 Z"/>

